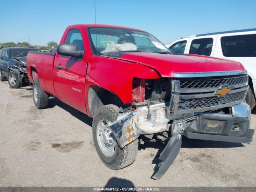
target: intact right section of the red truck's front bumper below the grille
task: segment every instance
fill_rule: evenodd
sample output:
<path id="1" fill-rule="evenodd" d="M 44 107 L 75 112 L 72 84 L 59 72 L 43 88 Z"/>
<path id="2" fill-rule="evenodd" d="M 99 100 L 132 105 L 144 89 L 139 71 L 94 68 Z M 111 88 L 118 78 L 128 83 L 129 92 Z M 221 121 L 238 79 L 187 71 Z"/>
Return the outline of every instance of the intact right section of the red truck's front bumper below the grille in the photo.
<path id="1" fill-rule="evenodd" d="M 190 122 L 184 136 L 191 139 L 250 143 L 254 130 L 250 129 L 250 107 L 246 103 L 232 107 L 232 115 L 199 114 Z"/>

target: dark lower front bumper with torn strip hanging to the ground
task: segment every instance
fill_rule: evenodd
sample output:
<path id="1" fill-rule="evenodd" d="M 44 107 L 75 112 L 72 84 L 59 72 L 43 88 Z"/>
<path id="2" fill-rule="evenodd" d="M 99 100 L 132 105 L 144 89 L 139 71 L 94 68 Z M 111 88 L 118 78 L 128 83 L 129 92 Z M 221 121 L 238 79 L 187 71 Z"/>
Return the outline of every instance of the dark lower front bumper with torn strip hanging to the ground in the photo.
<path id="1" fill-rule="evenodd" d="M 168 170 L 181 147 L 181 136 L 237 143 L 252 142 L 250 106 L 246 103 L 232 106 L 232 114 L 198 114 L 184 120 L 174 120 L 172 137 L 158 158 L 152 178 L 160 179 Z"/>

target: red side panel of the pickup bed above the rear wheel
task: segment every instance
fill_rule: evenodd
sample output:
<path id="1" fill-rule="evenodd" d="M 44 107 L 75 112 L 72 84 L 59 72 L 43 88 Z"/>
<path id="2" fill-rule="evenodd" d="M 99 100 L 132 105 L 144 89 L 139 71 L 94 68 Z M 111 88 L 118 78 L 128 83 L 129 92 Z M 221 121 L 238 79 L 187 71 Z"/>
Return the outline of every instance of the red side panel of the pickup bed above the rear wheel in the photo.
<path id="1" fill-rule="evenodd" d="M 27 57 L 27 70 L 30 82 L 33 83 L 34 79 L 38 78 L 42 89 L 53 96 L 56 96 L 53 85 L 53 64 L 55 55 L 55 53 L 51 52 L 30 51 Z M 34 75 L 33 70 L 36 70 L 38 77 Z"/>

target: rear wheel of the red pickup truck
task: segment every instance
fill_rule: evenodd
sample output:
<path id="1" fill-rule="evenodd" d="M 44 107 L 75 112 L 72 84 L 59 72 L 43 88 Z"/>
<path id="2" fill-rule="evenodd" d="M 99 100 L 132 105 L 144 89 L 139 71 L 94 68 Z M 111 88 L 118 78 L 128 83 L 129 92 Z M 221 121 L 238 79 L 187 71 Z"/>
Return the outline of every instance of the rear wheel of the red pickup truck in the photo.
<path id="1" fill-rule="evenodd" d="M 42 90 L 38 79 L 35 79 L 33 84 L 33 100 L 38 109 L 48 107 L 49 95 Z"/>

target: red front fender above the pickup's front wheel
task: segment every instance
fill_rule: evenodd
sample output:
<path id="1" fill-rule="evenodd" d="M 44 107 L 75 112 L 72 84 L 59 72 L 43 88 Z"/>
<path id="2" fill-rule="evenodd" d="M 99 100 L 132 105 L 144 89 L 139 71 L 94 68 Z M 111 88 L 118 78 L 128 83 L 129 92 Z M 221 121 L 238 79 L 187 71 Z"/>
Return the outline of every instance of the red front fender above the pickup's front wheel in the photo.
<path id="1" fill-rule="evenodd" d="M 124 60 L 107 57 L 89 59 L 86 74 L 86 95 L 90 86 L 98 86 L 116 94 L 123 104 L 132 103 L 132 81 L 134 78 L 157 79 L 161 76 L 156 70 Z M 88 100 L 86 102 L 88 114 Z"/>

